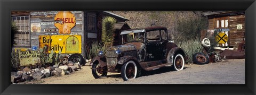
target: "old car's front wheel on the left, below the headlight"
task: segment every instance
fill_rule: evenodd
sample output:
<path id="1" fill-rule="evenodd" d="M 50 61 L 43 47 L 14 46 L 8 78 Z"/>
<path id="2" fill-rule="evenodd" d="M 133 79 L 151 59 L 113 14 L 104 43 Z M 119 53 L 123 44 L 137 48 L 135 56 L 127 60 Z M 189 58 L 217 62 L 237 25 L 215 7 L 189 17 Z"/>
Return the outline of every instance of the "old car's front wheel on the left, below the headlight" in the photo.
<path id="1" fill-rule="evenodd" d="M 107 69 L 107 67 L 105 66 L 105 67 L 100 67 L 100 64 L 99 63 L 93 63 L 92 64 L 92 68 L 94 68 L 94 69 L 92 69 L 92 75 L 93 75 L 93 77 L 95 78 L 95 79 L 99 79 L 99 78 L 101 78 L 101 77 L 106 77 L 107 76 L 107 74 L 108 74 L 108 69 Z M 96 69 L 95 69 L 96 68 Z"/>

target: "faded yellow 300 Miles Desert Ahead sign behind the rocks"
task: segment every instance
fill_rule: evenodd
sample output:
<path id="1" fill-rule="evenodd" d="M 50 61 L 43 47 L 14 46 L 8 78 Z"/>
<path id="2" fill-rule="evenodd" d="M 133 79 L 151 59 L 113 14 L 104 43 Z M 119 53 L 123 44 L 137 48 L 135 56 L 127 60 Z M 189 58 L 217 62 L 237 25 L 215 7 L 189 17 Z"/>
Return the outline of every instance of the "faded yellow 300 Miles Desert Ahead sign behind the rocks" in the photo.
<path id="1" fill-rule="evenodd" d="M 40 63 L 40 52 L 38 50 L 33 51 L 19 51 L 20 66 L 35 65 Z"/>

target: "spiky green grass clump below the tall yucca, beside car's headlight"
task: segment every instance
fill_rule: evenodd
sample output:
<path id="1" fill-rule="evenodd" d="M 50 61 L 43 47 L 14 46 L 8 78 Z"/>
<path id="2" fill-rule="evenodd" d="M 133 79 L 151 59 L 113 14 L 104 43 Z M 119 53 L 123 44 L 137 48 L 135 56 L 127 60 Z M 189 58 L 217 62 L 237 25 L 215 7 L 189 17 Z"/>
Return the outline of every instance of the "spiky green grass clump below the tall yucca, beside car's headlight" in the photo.
<path id="1" fill-rule="evenodd" d="M 86 46 L 86 54 L 88 59 L 92 59 L 97 56 L 99 51 L 103 51 L 105 54 L 106 48 L 103 47 L 102 43 L 99 41 L 93 41 L 92 44 Z"/>

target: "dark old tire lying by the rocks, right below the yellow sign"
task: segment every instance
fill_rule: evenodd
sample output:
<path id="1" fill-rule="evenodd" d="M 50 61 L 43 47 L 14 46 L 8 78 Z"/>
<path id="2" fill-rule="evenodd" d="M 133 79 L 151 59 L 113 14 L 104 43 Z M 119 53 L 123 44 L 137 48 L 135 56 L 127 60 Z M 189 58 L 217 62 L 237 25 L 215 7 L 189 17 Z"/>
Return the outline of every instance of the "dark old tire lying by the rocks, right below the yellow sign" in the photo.
<path id="1" fill-rule="evenodd" d="M 70 55 L 69 58 L 68 58 L 68 61 L 71 61 L 71 62 L 74 62 L 74 63 L 79 62 L 80 65 L 85 64 L 84 63 L 84 58 L 81 54 L 72 54 L 72 55 Z"/>

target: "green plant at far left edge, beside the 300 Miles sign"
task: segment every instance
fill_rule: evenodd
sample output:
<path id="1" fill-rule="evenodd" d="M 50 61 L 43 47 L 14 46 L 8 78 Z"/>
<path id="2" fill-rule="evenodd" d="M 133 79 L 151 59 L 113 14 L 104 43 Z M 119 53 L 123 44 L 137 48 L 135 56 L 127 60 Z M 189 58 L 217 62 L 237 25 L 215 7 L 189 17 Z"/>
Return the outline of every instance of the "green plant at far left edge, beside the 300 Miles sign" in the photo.
<path id="1" fill-rule="evenodd" d="M 12 50 L 11 52 L 11 67 L 12 68 L 19 68 L 20 67 L 20 59 L 19 59 L 19 53 L 18 50 Z"/>

